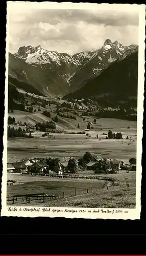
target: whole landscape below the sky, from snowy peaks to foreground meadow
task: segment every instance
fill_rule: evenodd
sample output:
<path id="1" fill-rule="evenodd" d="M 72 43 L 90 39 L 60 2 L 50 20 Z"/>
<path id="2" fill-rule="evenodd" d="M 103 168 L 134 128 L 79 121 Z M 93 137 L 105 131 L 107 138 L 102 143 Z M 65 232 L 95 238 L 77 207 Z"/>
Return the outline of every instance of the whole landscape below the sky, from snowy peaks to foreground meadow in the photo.
<path id="1" fill-rule="evenodd" d="M 138 47 L 109 39 L 101 49 L 74 55 L 40 46 L 9 54 L 7 194 L 58 189 L 63 199 L 56 206 L 116 208 L 120 191 L 120 206 L 134 208 L 137 68 Z M 108 175 L 130 182 L 130 193 L 110 188 L 113 197 L 107 196 L 101 188 Z"/>

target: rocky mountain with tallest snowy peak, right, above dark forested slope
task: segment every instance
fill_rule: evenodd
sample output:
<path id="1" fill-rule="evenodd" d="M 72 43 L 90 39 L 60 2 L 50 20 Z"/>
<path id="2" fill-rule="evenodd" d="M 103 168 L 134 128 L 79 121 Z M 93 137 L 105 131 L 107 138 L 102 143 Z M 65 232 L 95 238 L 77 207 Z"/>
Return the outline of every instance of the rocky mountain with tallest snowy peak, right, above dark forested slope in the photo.
<path id="1" fill-rule="evenodd" d="M 98 76 L 112 62 L 124 53 L 132 52 L 136 46 L 123 46 L 120 42 L 107 39 L 101 49 L 97 50 L 91 58 L 70 79 L 70 92 L 82 88 L 92 78 Z"/>

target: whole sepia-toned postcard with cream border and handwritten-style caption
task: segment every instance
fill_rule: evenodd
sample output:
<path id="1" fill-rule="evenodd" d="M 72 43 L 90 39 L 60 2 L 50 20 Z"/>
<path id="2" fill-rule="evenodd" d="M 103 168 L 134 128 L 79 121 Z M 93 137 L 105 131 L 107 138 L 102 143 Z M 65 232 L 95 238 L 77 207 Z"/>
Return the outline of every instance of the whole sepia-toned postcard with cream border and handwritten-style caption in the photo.
<path id="1" fill-rule="evenodd" d="M 140 219 L 145 5 L 7 2 L 2 216 Z"/>

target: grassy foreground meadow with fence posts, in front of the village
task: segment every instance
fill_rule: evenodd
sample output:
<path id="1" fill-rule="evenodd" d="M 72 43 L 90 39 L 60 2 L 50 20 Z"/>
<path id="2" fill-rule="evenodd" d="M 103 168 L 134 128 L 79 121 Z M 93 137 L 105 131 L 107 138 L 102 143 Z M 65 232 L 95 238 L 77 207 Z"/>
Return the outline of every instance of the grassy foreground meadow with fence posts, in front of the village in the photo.
<path id="1" fill-rule="evenodd" d="M 15 175 L 16 176 L 16 175 Z M 17 175 L 18 176 L 18 175 Z M 109 175 L 116 179 L 118 186 L 102 189 L 104 181 L 97 180 L 62 180 L 48 177 L 32 177 L 30 182 L 7 187 L 7 196 L 30 193 L 58 194 L 60 199 L 44 203 L 31 201 L 35 206 L 58 207 L 105 207 L 105 208 L 135 208 L 136 172 Z M 14 176 L 13 176 L 14 177 Z M 22 177 L 22 176 L 21 176 Z M 19 179 L 21 179 L 19 176 Z M 100 175 L 99 175 L 100 177 Z M 24 177 L 22 177 L 23 179 Z M 39 180 L 36 180 L 38 178 Z M 34 180 L 35 179 L 35 180 Z M 19 180 L 20 181 L 20 180 Z M 24 181 L 24 180 L 23 180 Z M 127 188 L 129 183 L 130 189 Z M 75 196 L 76 188 L 76 196 Z M 88 194 L 87 194 L 88 188 Z M 63 192 L 65 198 L 63 198 Z M 30 205 L 27 203 L 27 205 Z M 15 205 L 25 206 L 26 202 L 17 201 Z"/>

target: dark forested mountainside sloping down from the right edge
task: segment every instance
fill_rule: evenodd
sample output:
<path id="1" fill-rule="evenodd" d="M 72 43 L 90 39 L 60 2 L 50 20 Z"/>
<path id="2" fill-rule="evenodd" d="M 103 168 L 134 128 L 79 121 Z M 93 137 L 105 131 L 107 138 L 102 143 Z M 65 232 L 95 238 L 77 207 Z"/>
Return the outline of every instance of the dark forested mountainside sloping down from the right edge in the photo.
<path id="1" fill-rule="evenodd" d="M 106 70 L 96 78 L 85 84 L 83 88 L 64 96 L 63 99 L 93 98 L 100 101 L 128 100 L 129 97 L 137 98 L 138 82 L 138 47 L 132 52 L 128 51 L 121 58 L 114 61 Z"/>

